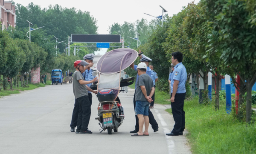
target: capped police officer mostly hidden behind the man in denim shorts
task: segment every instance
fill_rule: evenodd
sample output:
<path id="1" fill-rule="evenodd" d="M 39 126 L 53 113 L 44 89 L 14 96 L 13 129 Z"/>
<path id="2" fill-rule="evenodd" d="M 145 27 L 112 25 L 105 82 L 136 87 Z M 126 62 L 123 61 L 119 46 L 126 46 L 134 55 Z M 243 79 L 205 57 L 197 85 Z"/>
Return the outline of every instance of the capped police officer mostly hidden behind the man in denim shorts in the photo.
<path id="1" fill-rule="evenodd" d="M 139 51 L 141 53 L 141 51 Z M 147 65 L 147 71 L 146 71 L 146 74 L 148 74 L 150 77 L 151 77 L 151 73 L 152 73 L 152 70 L 148 67 L 149 65 L 149 62 L 152 61 L 150 58 L 146 57 L 145 55 L 140 55 L 140 61 L 141 62 L 144 62 L 146 63 Z M 134 69 L 135 71 L 137 71 L 137 65 L 134 65 L 131 64 L 130 66 L 132 69 Z M 137 81 L 138 81 L 138 78 L 139 78 L 139 75 L 137 74 L 137 78 L 136 78 L 136 83 L 135 83 L 135 88 L 137 86 Z M 136 107 L 136 102 L 135 102 L 135 93 L 136 91 L 134 92 L 134 110 L 135 110 L 135 107 Z M 154 132 L 157 132 L 158 131 L 158 124 L 157 124 L 157 121 L 154 119 L 154 115 L 152 114 L 152 112 L 150 111 L 150 109 L 148 108 L 148 118 L 149 118 L 149 123 L 151 124 L 152 128 L 154 129 Z M 137 117 L 137 115 L 135 115 L 135 119 L 136 119 L 136 125 L 135 125 L 135 130 L 134 131 L 130 131 L 130 133 L 137 133 L 139 131 L 139 119 Z"/>

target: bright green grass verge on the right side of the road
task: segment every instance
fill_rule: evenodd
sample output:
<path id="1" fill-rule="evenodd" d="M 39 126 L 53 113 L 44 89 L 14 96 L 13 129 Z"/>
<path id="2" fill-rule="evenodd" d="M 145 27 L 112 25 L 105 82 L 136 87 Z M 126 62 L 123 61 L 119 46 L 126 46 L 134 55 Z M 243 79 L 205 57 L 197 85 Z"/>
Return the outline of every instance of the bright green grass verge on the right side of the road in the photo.
<path id="1" fill-rule="evenodd" d="M 171 108 L 167 109 L 171 113 Z M 185 101 L 186 136 L 193 154 L 255 154 L 256 125 L 236 120 L 225 111 L 222 101 L 220 110 L 213 104 L 200 105 L 198 97 Z"/>

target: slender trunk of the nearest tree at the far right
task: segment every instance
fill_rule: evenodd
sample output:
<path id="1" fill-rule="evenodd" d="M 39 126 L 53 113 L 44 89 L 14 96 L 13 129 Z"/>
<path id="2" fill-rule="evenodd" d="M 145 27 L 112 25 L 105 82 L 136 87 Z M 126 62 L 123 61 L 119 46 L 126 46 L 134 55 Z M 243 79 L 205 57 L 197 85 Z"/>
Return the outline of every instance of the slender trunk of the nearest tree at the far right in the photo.
<path id="1" fill-rule="evenodd" d="M 247 80 L 250 83 L 250 80 Z M 247 96 L 246 96 L 246 122 L 249 123 L 252 117 L 252 88 L 253 85 L 247 86 Z"/>

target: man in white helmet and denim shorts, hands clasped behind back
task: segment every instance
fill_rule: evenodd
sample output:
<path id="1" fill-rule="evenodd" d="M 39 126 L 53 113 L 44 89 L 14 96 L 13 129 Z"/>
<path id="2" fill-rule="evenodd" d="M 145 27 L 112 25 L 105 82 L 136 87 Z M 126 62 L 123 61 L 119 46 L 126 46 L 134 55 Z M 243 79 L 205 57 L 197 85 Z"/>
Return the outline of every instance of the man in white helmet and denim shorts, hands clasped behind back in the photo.
<path id="1" fill-rule="evenodd" d="M 145 63 L 140 63 L 137 67 L 138 70 L 138 81 L 135 92 L 135 114 L 139 118 L 139 131 L 131 136 L 149 136 L 148 134 L 148 108 L 149 104 L 153 101 L 152 96 L 154 94 L 154 83 L 151 77 L 146 74 L 147 65 Z M 143 133 L 143 124 L 145 123 L 145 131 Z"/>

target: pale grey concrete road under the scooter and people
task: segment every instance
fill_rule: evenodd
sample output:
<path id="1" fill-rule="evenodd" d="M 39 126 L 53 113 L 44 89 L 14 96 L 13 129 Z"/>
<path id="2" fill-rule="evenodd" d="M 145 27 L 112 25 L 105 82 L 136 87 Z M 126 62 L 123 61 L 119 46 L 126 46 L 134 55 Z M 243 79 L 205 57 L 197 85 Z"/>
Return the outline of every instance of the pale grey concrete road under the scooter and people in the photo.
<path id="1" fill-rule="evenodd" d="M 135 117 L 134 89 L 120 93 L 125 120 L 117 133 L 99 133 L 98 99 L 93 96 L 89 129 L 93 134 L 70 132 L 74 106 L 71 84 L 51 85 L 0 98 L 0 154 L 190 154 L 185 136 L 166 136 L 172 130 L 170 105 L 155 105 L 151 111 L 159 131 L 131 137 Z"/>

